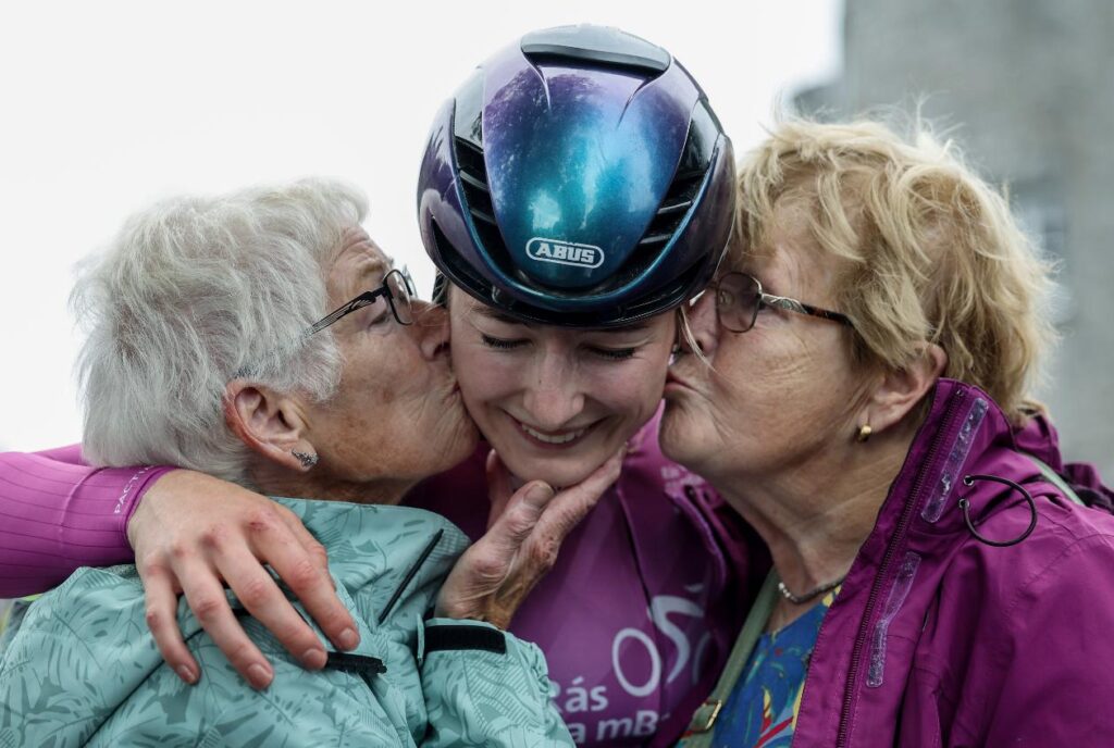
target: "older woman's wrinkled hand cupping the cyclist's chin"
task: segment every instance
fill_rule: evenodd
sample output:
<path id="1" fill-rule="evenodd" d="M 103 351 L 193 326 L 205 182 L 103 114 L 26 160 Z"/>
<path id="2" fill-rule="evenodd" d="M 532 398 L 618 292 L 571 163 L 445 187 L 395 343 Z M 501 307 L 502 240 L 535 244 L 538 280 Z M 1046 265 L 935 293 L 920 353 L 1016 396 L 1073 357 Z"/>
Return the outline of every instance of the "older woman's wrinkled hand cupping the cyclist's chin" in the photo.
<path id="1" fill-rule="evenodd" d="M 622 450 L 584 481 L 557 493 L 531 481 L 511 494 L 510 475 L 495 452 L 488 455 L 491 518 L 487 533 L 452 568 L 438 596 L 436 614 L 488 621 L 500 629 L 553 568 L 568 533 L 619 475 Z"/>

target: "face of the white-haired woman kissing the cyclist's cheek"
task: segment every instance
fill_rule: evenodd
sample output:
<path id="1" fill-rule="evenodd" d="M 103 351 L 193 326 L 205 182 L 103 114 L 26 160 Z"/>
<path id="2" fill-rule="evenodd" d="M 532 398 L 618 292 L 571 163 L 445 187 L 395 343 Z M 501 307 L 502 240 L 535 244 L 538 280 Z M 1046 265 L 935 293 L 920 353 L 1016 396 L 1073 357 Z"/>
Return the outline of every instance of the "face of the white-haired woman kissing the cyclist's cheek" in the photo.
<path id="1" fill-rule="evenodd" d="M 379 287 L 390 267 L 362 229 L 351 229 L 329 274 L 330 303 Z M 381 296 L 329 328 L 344 364 L 336 395 L 306 407 L 307 436 L 321 456 L 315 479 L 351 485 L 355 495 L 372 483 L 380 494 L 401 495 L 475 447 L 476 429 L 449 366 L 448 315 L 413 305 L 412 325 L 400 325 Z"/>

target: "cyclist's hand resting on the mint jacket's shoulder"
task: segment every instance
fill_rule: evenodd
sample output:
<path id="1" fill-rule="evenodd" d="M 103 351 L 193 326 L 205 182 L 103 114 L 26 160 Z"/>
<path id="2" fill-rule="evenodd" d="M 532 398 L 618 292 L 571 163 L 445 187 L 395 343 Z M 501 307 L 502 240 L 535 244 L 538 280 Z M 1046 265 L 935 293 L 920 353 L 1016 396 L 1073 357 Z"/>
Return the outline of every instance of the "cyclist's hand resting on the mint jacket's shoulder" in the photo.
<path id="1" fill-rule="evenodd" d="M 336 647 L 353 649 L 360 641 L 333 589 L 324 547 L 293 512 L 265 496 L 175 470 L 147 491 L 127 533 L 147 596 L 147 626 L 163 659 L 187 683 L 197 682 L 201 668 L 178 630 L 179 593 L 248 683 L 265 688 L 274 678 L 271 663 L 236 621 L 225 584 L 304 667 L 324 667 L 321 641 L 263 564 L 274 569 Z"/>

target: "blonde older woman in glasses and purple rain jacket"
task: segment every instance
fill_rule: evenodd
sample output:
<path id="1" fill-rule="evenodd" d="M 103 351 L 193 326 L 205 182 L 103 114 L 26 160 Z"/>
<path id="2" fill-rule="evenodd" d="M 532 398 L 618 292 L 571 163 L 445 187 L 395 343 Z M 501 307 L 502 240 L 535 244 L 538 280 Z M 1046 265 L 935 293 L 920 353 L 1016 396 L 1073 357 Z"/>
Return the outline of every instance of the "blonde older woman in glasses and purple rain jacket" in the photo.
<path id="1" fill-rule="evenodd" d="M 774 568 L 682 745 L 1108 745 L 1114 518 L 1029 398 L 1048 265 L 924 132 L 786 121 L 739 188 L 662 443 Z"/>

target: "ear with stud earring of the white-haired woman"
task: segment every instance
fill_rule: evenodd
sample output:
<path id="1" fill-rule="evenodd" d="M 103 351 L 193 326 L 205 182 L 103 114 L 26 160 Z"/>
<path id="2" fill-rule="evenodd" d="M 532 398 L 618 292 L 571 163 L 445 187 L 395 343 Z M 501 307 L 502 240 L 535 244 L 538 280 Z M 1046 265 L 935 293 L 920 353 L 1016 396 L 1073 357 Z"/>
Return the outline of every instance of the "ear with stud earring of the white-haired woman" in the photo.
<path id="1" fill-rule="evenodd" d="M 246 380 L 224 388 L 224 421 L 257 454 L 297 472 L 309 471 L 294 452 L 316 454 L 306 437 L 307 423 L 297 398 Z"/>

